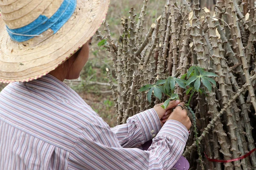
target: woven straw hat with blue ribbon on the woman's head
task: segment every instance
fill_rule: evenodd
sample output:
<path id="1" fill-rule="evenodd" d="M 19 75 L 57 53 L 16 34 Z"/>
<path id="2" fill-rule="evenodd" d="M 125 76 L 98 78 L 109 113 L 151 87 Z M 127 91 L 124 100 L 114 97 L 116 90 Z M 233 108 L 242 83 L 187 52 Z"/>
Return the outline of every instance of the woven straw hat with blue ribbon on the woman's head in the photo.
<path id="1" fill-rule="evenodd" d="M 30 81 L 57 68 L 95 34 L 109 1 L 0 0 L 0 82 Z"/>

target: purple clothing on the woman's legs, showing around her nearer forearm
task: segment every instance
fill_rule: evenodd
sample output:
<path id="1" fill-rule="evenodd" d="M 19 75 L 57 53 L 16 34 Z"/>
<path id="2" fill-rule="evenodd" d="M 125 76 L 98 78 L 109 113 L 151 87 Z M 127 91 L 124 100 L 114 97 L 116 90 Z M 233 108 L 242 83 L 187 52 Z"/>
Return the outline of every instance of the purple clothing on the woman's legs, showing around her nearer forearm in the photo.
<path id="1" fill-rule="evenodd" d="M 152 140 L 145 142 L 142 145 L 143 150 L 148 150 L 151 146 Z M 171 168 L 171 170 L 188 170 L 189 169 L 189 162 L 183 156 L 180 156 L 180 159 L 176 162 L 176 164 Z"/>

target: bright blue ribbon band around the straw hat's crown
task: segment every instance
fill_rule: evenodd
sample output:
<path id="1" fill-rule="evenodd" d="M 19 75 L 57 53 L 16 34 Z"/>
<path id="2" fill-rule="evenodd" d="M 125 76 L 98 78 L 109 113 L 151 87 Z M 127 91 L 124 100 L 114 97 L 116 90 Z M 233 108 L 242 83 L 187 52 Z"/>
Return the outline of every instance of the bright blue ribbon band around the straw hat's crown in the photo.
<path id="1" fill-rule="evenodd" d="M 9 29 L 8 26 L 6 26 L 7 32 L 12 40 L 16 42 L 24 42 L 32 39 L 36 35 L 40 35 L 44 31 L 47 31 L 49 28 L 52 29 L 53 34 L 55 34 L 65 23 L 67 23 L 75 9 L 76 0 L 64 0 L 60 8 L 58 8 L 52 17 L 47 18 L 45 15 L 40 15 L 32 23 L 17 29 Z"/>

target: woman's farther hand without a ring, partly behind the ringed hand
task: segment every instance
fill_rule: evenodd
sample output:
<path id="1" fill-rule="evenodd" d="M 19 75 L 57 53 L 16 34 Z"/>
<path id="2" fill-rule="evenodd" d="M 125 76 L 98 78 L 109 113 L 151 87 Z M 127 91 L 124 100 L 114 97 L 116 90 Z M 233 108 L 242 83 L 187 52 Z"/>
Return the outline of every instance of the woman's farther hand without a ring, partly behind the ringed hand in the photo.
<path id="1" fill-rule="evenodd" d="M 163 124 L 167 121 L 170 114 L 172 113 L 172 109 L 175 108 L 178 104 L 180 104 L 180 100 L 169 102 L 169 105 L 166 109 L 161 107 L 163 103 L 154 106 L 154 110 L 157 112 L 157 115 L 160 119 L 161 126 L 163 126 Z"/>

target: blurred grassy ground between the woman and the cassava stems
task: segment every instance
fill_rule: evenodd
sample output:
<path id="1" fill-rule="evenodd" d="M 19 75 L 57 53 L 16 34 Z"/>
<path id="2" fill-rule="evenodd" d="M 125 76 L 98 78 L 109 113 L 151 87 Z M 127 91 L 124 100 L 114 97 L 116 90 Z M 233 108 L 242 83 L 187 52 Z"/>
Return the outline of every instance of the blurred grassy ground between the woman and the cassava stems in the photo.
<path id="1" fill-rule="evenodd" d="M 145 16 L 144 34 L 154 23 L 156 18 L 162 14 L 165 1 L 163 0 L 149 0 L 148 10 Z M 127 18 L 131 7 L 135 8 L 135 13 L 140 14 L 143 1 L 135 0 L 111 0 L 108 15 L 106 20 L 110 24 L 111 36 L 114 40 L 118 40 L 122 35 L 121 18 Z M 122 9 L 122 10 L 120 10 Z M 100 31 L 104 32 L 104 26 Z M 101 116 L 105 122 L 111 127 L 116 126 L 117 116 L 114 109 L 114 102 L 112 97 L 112 91 L 108 85 L 92 84 L 93 82 L 105 82 L 108 83 L 108 77 L 106 68 L 109 68 L 111 74 L 114 76 L 114 68 L 112 57 L 103 46 L 98 47 L 99 39 L 96 35 L 93 37 L 93 42 L 90 50 L 90 58 L 84 67 L 84 71 L 81 74 L 82 83 L 76 85 L 74 82 L 68 82 L 73 89 L 75 89 L 80 96 L 90 105 L 99 116 Z M 90 81 L 90 82 L 89 82 Z M 113 83 L 116 83 L 113 80 Z M 91 85 L 89 85 L 91 84 Z"/>

